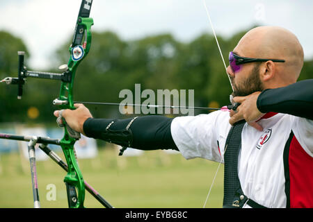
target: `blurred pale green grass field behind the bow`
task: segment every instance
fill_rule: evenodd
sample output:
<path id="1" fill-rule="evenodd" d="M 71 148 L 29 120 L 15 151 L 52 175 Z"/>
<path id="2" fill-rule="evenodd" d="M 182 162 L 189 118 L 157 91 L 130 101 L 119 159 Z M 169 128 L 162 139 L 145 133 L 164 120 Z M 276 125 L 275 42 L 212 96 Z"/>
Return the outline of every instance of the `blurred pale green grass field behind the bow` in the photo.
<path id="1" fill-rule="evenodd" d="M 61 153 L 58 153 L 63 158 Z M 64 158 L 63 158 L 64 159 Z M 0 207 L 33 207 L 29 162 L 18 153 L 1 155 Z M 218 163 L 185 160 L 180 154 L 147 151 L 120 157 L 114 148 L 99 150 L 94 159 L 80 159 L 84 180 L 113 207 L 203 207 Z M 65 171 L 52 160 L 37 163 L 41 207 L 67 207 Z M 47 200 L 47 185 L 56 186 L 56 200 Z M 206 207 L 221 207 L 223 166 Z M 86 191 L 86 207 L 102 207 Z"/>

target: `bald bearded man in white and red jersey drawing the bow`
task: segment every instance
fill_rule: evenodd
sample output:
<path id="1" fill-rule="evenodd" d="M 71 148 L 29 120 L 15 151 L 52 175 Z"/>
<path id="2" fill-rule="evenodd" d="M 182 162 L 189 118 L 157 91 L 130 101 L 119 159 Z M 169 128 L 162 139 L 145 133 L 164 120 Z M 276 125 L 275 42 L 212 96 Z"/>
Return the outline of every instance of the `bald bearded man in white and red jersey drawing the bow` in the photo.
<path id="1" fill-rule="evenodd" d="M 261 26 L 230 53 L 227 73 L 240 103 L 236 111 L 113 120 L 93 119 L 77 104 L 62 116 L 79 133 L 125 147 L 171 148 L 186 159 L 225 157 L 223 207 L 313 207 L 313 80 L 296 83 L 302 67 L 296 36 Z M 237 124 L 242 119 L 246 123 Z M 234 148 L 237 153 L 231 154 Z M 232 184 L 239 189 L 229 190 Z"/>

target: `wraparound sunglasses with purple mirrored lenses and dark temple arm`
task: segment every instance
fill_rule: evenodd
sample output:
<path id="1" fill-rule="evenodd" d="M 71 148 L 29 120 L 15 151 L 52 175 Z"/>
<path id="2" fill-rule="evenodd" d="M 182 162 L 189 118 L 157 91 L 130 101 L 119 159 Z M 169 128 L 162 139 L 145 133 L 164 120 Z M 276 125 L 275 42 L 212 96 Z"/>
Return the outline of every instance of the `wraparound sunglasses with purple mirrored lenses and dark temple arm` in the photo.
<path id="1" fill-rule="evenodd" d="M 272 61 L 272 62 L 285 62 L 284 60 L 276 60 L 276 59 L 271 59 L 271 58 L 247 58 L 247 57 L 241 57 L 237 56 L 235 53 L 232 51 L 230 52 L 230 56 L 228 57 L 230 60 L 230 67 L 232 68 L 232 71 L 236 73 L 239 71 L 242 67 L 243 64 L 248 63 L 248 62 L 267 62 L 267 61 Z"/>

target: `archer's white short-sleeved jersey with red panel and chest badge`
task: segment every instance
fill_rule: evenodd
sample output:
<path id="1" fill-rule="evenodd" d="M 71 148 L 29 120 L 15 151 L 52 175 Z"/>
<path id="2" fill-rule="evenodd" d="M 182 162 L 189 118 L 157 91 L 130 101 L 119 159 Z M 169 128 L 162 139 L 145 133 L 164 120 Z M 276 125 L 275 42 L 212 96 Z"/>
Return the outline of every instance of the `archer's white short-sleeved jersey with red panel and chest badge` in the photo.
<path id="1" fill-rule="evenodd" d="M 229 119 L 225 111 L 177 117 L 172 138 L 186 159 L 223 162 Z M 246 123 L 241 133 L 243 194 L 264 207 L 313 207 L 313 121 L 269 112 L 258 123 L 262 132 Z"/>

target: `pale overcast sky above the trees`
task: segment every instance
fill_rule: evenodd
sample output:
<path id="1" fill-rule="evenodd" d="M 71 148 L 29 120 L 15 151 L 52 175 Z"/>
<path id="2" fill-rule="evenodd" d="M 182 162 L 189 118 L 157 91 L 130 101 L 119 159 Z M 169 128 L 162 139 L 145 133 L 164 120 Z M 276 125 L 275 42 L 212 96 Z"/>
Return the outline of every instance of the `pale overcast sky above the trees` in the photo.
<path id="1" fill-rule="evenodd" d="M 93 30 L 114 31 L 123 40 L 172 33 L 178 40 L 189 41 L 201 33 L 211 33 L 202 1 L 94 0 L 90 17 L 95 22 Z M 80 3 L 81 0 L 0 0 L 0 30 L 22 37 L 31 53 L 28 63 L 34 69 L 46 69 L 51 53 L 72 37 Z M 313 1 L 206 3 L 218 35 L 228 37 L 253 24 L 282 26 L 298 36 L 305 58 L 313 58 Z"/>

